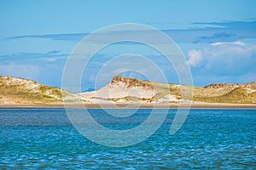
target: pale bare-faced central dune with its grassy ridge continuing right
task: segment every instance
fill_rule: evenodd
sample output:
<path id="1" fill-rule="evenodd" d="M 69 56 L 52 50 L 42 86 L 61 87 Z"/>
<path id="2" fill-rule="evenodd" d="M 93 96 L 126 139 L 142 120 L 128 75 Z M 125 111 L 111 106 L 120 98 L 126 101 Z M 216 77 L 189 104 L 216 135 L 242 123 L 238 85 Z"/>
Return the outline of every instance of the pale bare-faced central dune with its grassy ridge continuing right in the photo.
<path id="1" fill-rule="evenodd" d="M 135 78 L 113 77 L 105 87 L 79 94 L 91 103 L 177 103 L 183 85 L 141 81 Z M 211 84 L 205 88 L 191 87 L 195 102 L 256 103 L 256 82 L 247 84 Z"/>

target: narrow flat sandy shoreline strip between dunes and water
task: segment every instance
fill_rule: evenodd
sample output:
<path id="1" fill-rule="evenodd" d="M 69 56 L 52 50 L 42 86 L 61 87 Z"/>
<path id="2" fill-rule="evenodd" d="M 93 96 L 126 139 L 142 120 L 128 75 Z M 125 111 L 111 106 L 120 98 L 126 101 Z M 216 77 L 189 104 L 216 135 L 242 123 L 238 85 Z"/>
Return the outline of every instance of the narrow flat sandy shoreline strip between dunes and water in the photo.
<path id="1" fill-rule="evenodd" d="M 179 104 L 50 104 L 50 105 L 36 105 L 36 104 L 20 104 L 8 105 L 0 104 L 0 109 L 177 109 L 188 108 L 179 107 Z M 256 109 L 256 104 L 228 104 L 228 103 L 193 103 L 191 109 Z"/>

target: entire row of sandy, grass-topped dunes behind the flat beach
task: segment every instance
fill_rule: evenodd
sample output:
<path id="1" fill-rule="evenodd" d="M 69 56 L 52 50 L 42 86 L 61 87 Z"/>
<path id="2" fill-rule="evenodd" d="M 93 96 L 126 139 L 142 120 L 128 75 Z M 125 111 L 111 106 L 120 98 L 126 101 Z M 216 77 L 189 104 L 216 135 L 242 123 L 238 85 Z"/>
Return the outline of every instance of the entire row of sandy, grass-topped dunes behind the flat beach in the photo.
<path id="1" fill-rule="evenodd" d="M 69 103 L 178 103 L 182 100 L 180 91 L 183 87 L 188 86 L 113 77 L 99 90 L 72 94 L 35 81 L 0 76 L 0 104 L 61 104 L 62 97 Z M 256 82 L 190 88 L 193 89 L 193 102 L 256 104 Z"/>

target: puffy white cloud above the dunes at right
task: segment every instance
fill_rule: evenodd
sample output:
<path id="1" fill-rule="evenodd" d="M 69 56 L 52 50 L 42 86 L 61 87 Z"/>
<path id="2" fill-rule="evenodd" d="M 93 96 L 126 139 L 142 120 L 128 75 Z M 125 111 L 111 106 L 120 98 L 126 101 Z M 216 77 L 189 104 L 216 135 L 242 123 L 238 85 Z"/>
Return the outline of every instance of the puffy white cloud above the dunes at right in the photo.
<path id="1" fill-rule="evenodd" d="M 244 42 L 215 42 L 189 51 L 189 65 L 201 75 L 241 76 L 256 70 L 256 45 Z"/>

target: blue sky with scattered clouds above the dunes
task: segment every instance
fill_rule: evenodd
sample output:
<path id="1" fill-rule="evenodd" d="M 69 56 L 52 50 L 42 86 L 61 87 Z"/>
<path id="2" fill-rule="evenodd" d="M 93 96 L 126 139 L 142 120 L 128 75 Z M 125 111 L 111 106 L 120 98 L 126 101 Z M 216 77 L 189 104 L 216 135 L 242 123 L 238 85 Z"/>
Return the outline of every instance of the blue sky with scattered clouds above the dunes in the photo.
<path id="1" fill-rule="evenodd" d="M 255 82 L 255 6 L 256 1 L 248 0 L 0 0 L 0 75 L 61 87 L 67 59 L 84 37 L 105 26 L 137 23 L 163 31 L 176 42 L 195 86 Z M 175 69 L 166 64 L 165 57 L 157 57 L 160 54 L 142 44 L 120 43 L 102 49 L 90 60 L 82 90 L 96 88 L 102 66 L 129 53 L 148 57 L 160 66 L 167 82 L 178 83 Z M 124 72 L 125 64 L 119 64 L 119 72 L 104 74 L 98 88 L 115 73 L 143 77 L 143 71 Z M 144 70 L 154 74 L 150 67 L 144 66 Z"/>

